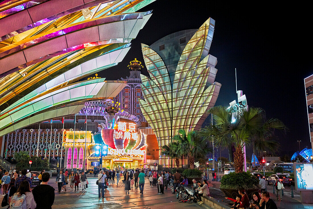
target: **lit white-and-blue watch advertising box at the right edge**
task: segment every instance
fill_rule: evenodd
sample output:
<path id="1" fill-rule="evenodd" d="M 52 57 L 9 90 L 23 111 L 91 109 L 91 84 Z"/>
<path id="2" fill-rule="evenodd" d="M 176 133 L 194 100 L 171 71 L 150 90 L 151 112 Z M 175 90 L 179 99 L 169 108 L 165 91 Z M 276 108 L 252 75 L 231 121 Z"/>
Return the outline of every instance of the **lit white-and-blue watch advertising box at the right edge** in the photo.
<path id="1" fill-rule="evenodd" d="M 313 191 L 313 163 L 294 163 L 297 191 Z"/>

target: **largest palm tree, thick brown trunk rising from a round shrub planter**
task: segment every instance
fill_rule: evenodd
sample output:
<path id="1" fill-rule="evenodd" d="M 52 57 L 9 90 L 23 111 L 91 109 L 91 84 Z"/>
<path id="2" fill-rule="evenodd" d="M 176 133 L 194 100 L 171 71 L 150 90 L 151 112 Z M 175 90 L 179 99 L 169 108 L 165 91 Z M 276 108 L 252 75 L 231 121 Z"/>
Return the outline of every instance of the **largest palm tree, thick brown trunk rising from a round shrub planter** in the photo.
<path id="1" fill-rule="evenodd" d="M 201 129 L 201 135 L 214 141 L 215 146 L 228 147 L 234 144 L 235 172 L 243 172 L 244 153 L 242 147 L 251 142 L 254 149 L 269 151 L 278 150 L 279 143 L 273 140 L 274 130 L 286 130 L 285 125 L 278 119 L 266 121 L 264 110 L 250 107 L 242 109 L 232 121 L 232 112 L 223 106 L 216 106 L 208 110 L 213 115 L 214 124 Z"/>

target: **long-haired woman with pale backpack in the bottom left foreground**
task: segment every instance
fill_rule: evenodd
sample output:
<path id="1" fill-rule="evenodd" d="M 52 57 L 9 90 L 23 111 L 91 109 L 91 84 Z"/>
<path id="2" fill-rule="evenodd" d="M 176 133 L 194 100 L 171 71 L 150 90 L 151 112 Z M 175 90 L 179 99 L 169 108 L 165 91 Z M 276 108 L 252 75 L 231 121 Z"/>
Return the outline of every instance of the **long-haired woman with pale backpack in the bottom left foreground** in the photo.
<path id="1" fill-rule="evenodd" d="M 33 193 L 30 191 L 30 186 L 27 180 L 23 180 L 18 187 L 17 192 L 13 195 L 11 199 L 10 206 L 13 207 L 19 201 L 23 200 L 19 203 L 23 208 L 35 209 L 37 204 L 34 200 Z M 25 206 L 25 207 L 24 207 Z"/>

